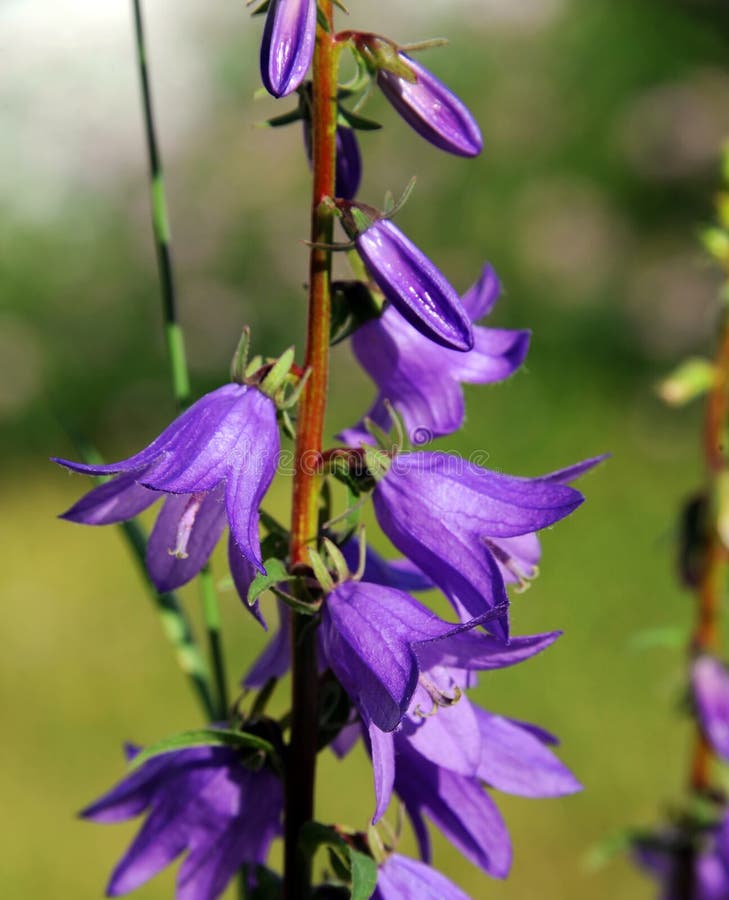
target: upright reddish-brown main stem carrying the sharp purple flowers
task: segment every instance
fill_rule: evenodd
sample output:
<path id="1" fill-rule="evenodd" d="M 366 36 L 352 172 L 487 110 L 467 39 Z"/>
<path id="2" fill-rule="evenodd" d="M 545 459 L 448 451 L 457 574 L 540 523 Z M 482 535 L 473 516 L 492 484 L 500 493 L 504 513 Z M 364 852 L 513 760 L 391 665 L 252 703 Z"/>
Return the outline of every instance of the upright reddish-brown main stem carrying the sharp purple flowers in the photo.
<path id="1" fill-rule="evenodd" d="M 308 563 L 316 546 L 320 467 L 329 374 L 331 319 L 331 244 L 334 218 L 323 202 L 334 195 L 336 164 L 336 93 L 338 48 L 333 37 L 333 4 L 319 3 L 328 28 L 317 26 L 312 83 L 312 248 L 309 263 L 309 310 L 306 361 L 311 375 L 299 404 L 291 513 L 291 562 Z M 285 900 L 305 900 L 311 891 L 311 867 L 299 852 L 302 826 L 314 814 L 316 772 L 317 663 L 316 631 L 311 619 L 291 612 L 291 742 L 286 767 L 284 849 Z"/>

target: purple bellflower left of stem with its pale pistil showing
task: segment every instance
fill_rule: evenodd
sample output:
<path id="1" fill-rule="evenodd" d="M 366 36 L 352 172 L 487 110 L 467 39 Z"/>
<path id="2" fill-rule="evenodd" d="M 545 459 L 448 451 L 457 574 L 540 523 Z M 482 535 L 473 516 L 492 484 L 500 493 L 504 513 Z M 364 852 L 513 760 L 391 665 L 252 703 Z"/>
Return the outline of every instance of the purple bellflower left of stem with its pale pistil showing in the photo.
<path id="1" fill-rule="evenodd" d="M 273 478 L 280 438 L 276 408 L 256 387 L 227 384 L 206 394 L 139 453 L 108 465 L 56 459 L 75 472 L 116 475 L 63 513 L 86 525 L 136 516 L 161 497 L 147 546 L 160 591 L 193 578 L 230 525 L 230 555 L 263 571 L 258 508 Z"/>

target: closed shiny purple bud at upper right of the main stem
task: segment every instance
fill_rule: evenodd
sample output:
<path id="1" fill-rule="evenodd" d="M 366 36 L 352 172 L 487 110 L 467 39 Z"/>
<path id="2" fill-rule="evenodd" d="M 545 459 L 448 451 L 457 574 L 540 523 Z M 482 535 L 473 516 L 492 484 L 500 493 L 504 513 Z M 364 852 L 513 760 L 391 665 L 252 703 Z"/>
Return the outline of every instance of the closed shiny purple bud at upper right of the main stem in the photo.
<path id="1" fill-rule="evenodd" d="M 426 141 L 457 156 L 478 156 L 483 139 L 466 106 L 420 63 L 404 53 L 398 56 L 417 80 L 409 82 L 395 72 L 379 69 L 377 84 L 385 97 Z"/>

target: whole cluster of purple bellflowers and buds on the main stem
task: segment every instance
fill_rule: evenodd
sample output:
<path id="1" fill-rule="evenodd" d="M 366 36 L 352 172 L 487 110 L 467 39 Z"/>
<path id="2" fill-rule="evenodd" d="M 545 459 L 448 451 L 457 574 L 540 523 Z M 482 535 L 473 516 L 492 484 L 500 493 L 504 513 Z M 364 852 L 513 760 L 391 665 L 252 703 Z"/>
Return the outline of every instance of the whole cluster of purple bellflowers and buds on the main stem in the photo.
<path id="1" fill-rule="evenodd" d="M 275 97 L 298 93 L 298 108 L 287 120 L 303 120 L 310 160 L 317 84 L 305 79 L 319 41 L 334 42 L 338 52 L 348 49 L 362 78 L 431 144 L 461 157 L 480 152 L 471 113 L 403 48 L 369 33 L 332 34 L 315 0 L 270 0 L 261 11 L 262 80 Z M 194 746 L 178 738 L 133 764 L 117 787 L 84 811 L 99 822 L 146 816 L 114 871 L 111 895 L 133 890 L 182 854 L 177 896 L 183 900 L 214 900 L 236 872 L 255 881 L 265 871 L 271 841 L 282 830 L 289 781 L 281 774 L 297 765 L 293 739 L 286 743 L 289 720 L 270 718 L 265 708 L 272 687 L 291 668 L 296 616 L 309 617 L 320 687 L 333 687 L 337 698 L 333 706 L 310 710 L 317 747 L 344 757 L 362 740 L 372 761 L 373 825 L 397 796 L 417 837 L 421 862 L 400 855 L 396 842 L 370 834 L 348 844 L 341 835 L 350 832 L 331 829 L 331 846 L 364 848 L 376 877 L 373 897 L 463 900 L 462 891 L 429 865 L 426 820 L 467 860 L 503 878 L 512 850 L 492 791 L 556 797 L 580 789 L 552 749 L 555 738 L 481 709 L 468 691 L 480 673 L 522 664 L 558 638 L 559 632 L 511 636 L 509 589 L 523 589 L 536 576 L 537 532 L 582 503 L 571 482 L 599 459 L 517 477 L 454 454 L 407 449 L 402 433 L 388 437 L 402 423 L 418 447 L 455 432 L 465 414 L 461 385 L 510 377 L 530 335 L 476 324 L 499 294 L 490 265 L 459 296 L 393 224 L 393 210 L 354 200 L 362 168 L 355 130 L 372 123 L 342 107 L 352 93 L 349 87 L 338 94 L 337 196 L 323 206 L 356 251 L 351 284 L 358 293 L 345 295 L 365 296 L 368 308 L 352 303 L 349 333 L 377 396 L 340 433 L 340 445 L 317 455 L 324 514 L 309 541 L 309 564 L 289 552 L 292 535 L 261 510 L 279 459 L 279 427 L 293 427 L 288 410 L 312 374 L 295 366 L 292 355 L 234 367 L 230 384 L 197 400 L 127 459 L 105 465 L 56 460 L 76 472 L 113 476 L 64 513 L 71 521 L 118 523 L 162 501 L 146 556 L 160 592 L 200 572 L 227 524 L 232 581 L 244 606 L 266 627 L 259 597 L 271 590 L 278 598 L 278 630 L 243 681 L 256 692 L 251 712 L 236 709 L 227 723 L 214 723 L 218 737 L 210 729 L 209 745 L 199 746 L 199 735 Z M 334 122 L 330 134 L 333 140 Z M 297 470 L 294 478 L 304 474 Z M 346 483 L 352 500 L 343 516 L 332 514 L 332 479 Z M 366 500 L 401 559 L 386 560 L 366 546 L 358 527 Z M 345 526 L 336 527 L 342 521 Z M 447 598 L 452 621 L 413 596 L 432 589 Z M 261 731 L 273 738 L 258 741 L 251 758 L 241 747 L 255 743 Z M 280 896 L 279 881 L 268 876 L 265 896 Z M 341 896 L 348 877 L 354 878 L 353 866 L 348 874 L 340 864 L 317 896 Z"/>

